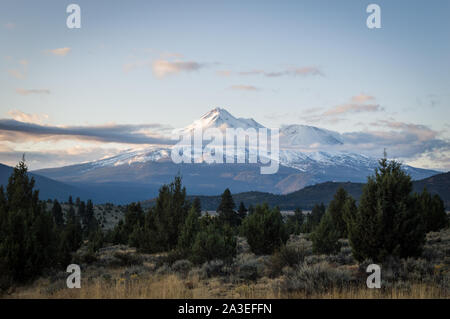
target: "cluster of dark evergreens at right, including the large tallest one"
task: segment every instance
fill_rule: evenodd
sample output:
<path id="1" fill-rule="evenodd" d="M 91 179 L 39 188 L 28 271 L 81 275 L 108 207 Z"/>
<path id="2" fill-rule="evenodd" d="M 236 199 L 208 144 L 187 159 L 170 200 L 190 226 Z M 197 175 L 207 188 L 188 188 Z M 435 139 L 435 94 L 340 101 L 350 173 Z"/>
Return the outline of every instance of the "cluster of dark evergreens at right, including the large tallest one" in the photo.
<path id="1" fill-rule="evenodd" d="M 336 253 L 338 239 L 348 238 L 359 261 L 381 262 L 389 256 L 419 256 L 425 234 L 448 226 L 444 203 L 426 189 L 412 192 L 411 177 L 401 164 L 383 158 L 363 188 L 359 204 L 339 189 L 312 234 L 319 253 Z"/>

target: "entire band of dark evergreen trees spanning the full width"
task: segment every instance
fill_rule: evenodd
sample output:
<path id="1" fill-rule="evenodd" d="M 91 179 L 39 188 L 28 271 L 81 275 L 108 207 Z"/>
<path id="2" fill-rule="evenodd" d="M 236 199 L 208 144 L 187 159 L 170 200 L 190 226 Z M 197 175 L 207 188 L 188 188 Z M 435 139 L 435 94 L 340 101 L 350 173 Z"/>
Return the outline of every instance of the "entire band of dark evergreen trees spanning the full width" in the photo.
<path id="1" fill-rule="evenodd" d="M 297 209 L 283 217 L 268 205 L 236 204 L 229 189 L 222 194 L 217 216 L 202 215 L 198 198 L 186 199 L 181 177 L 163 185 L 156 204 L 144 211 L 139 203 L 127 206 L 124 219 L 104 234 L 94 216 L 92 201 L 69 198 L 68 211 L 53 201 L 50 211 L 34 190 L 34 179 L 21 161 L 0 187 L 0 289 L 26 282 L 45 269 L 64 269 L 84 241 L 94 252 L 105 242 L 127 244 L 141 252 L 171 252 L 179 258 L 203 263 L 231 261 L 236 236 L 247 238 L 255 254 L 283 248 L 289 235 L 310 233 L 317 253 L 337 253 L 338 239 L 348 238 L 359 261 L 383 261 L 389 256 L 421 253 L 425 234 L 448 226 L 439 196 L 425 189 L 412 193 L 411 178 L 399 163 L 383 158 L 368 178 L 357 204 L 339 189 L 328 207 L 314 206 L 310 214 Z"/>

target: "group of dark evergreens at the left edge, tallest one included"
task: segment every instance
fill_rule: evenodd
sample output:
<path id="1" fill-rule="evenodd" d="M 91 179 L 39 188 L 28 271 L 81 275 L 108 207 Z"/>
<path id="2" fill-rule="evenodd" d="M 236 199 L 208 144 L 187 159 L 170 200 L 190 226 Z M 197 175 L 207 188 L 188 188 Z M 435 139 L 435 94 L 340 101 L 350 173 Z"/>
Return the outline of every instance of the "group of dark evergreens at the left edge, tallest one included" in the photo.
<path id="1" fill-rule="evenodd" d="M 92 202 L 81 216 L 83 223 L 73 203 L 64 218 L 56 200 L 51 211 L 46 210 L 34 184 L 22 160 L 6 188 L 0 186 L 0 289 L 33 279 L 45 269 L 65 269 L 83 238 L 101 231 L 93 216 Z"/>

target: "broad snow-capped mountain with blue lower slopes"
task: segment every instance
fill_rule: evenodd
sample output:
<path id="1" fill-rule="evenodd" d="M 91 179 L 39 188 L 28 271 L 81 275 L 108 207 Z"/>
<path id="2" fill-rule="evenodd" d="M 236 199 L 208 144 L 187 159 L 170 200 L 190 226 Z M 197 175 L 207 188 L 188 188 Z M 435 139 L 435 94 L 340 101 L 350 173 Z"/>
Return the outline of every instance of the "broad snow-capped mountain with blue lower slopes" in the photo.
<path id="1" fill-rule="evenodd" d="M 264 128 L 253 119 L 236 118 L 222 108 L 215 108 L 192 124 L 176 131 L 192 134 L 201 128 Z M 178 136 L 179 136 L 178 135 Z M 105 200 L 143 200 L 154 196 L 163 183 L 177 173 L 183 176 L 187 189 L 199 195 L 217 194 L 230 187 L 233 192 L 265 191 L 288 193 L 320 182 L 365 182 L 377 167 L 376 159 L 362 154 L 333 149 L 343 144 L 337 132 L 307 126 L 288 125 L 280 129 L 279 171 L 261 175 L 261 164 L 175 164 L 171 146 L 151 146 L 128 150 L 116 156 L 90 163 L 36 171 L 57 181 L 105 190 Z M 205 145 L 203 145 L 205 146 Z M 227 149 L 230 147 L 226 145 Z M 320 150 L 326 147 L 326 151 Z M 233 146 L 234 148 L 234 146 Z M 220 151 L 218 151 L 220 154 Z M 246 159 L 257 149 L 238 148 L 235 158 Z M 199 156 L 203 156 L 200 152 Z M 226 154 L 228 156 L 228 154 Z M 271 158 L 272 155 L 270 156 Z M 228 158 L 228 157 L 227 157 Z M 244 161 L 245 162 L 245 161 Z M 413 179 L 422 179 L 438 172 L 404 166 Z M 101 185 L 101 186 L 99 186 Z M 132 191 L 131 191 L 132 190 Z M 143 196 L 147 196 L 141 198 Z"/>

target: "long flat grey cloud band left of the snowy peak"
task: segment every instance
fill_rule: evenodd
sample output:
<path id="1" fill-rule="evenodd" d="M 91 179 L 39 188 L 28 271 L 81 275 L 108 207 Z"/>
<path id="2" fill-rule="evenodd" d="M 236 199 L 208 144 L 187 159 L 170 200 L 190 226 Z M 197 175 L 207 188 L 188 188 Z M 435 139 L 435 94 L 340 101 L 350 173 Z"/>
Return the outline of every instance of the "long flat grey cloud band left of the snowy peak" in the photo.
<path id="1" fill-rule="evenodd" d="M 0 119 L 1 140 L 80 139 L 125 144 L 174 144 L 172 139 L 159 134 L 167 129 L 160 124 L 50 126 L 36 124 L 33 117 L 22 119 L 30 122 Z"/>

